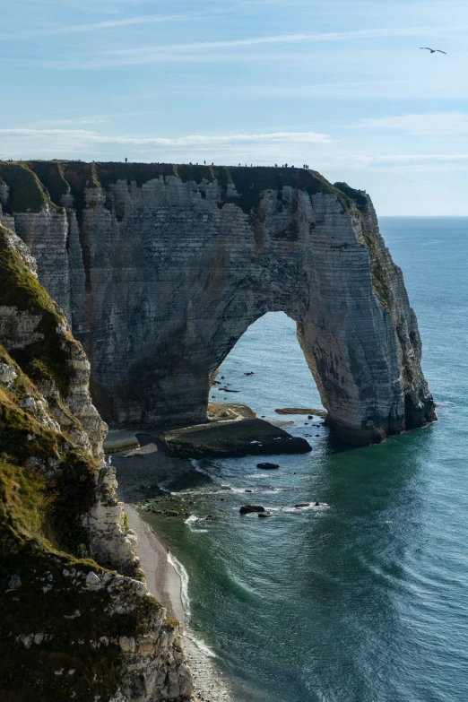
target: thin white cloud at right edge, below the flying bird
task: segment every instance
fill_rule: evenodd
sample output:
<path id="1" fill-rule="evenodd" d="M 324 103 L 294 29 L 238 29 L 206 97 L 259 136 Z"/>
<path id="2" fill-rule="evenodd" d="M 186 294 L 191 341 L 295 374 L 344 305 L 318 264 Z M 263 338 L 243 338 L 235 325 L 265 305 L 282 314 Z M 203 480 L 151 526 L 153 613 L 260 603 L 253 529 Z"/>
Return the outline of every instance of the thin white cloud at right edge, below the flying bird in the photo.
<path id="1" fill-rule="evenodd" d="M 468 134 L 468 114 L 463 112 L 438 112 L 409 114 L 400 117 L 366 117 L 359 125 L 372 129 L 390 129 L 406 134 L 446 136 Z"/>

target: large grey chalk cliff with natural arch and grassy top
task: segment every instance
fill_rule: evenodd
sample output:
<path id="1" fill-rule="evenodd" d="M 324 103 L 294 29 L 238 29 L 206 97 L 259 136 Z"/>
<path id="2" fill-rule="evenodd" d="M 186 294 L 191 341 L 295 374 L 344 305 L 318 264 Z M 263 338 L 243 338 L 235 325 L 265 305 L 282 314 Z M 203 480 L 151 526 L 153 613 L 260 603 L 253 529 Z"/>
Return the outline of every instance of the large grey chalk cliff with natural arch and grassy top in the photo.
<path id="1" fill-rule="evenodd" d="M 205 419 L 216 368 L 277 310 L 296 321 L 342 438 L 435 419 L 368 195 L 297 169 L 33 161 L 0 177 L 4 223 L 87 351 L 109 422 Z"/>

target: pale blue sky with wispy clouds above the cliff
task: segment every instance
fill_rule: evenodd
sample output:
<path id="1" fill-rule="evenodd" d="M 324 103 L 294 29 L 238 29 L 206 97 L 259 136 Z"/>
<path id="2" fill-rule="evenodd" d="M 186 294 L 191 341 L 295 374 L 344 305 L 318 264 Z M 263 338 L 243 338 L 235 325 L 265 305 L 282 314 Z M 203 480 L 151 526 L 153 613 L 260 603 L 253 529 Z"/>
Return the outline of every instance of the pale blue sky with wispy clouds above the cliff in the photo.
<path id="1" fill-rule="evenodd" d="M 0 11 L 4 159 L 306 163 L 381 215 L 468 215 L 466 0 Z"/>

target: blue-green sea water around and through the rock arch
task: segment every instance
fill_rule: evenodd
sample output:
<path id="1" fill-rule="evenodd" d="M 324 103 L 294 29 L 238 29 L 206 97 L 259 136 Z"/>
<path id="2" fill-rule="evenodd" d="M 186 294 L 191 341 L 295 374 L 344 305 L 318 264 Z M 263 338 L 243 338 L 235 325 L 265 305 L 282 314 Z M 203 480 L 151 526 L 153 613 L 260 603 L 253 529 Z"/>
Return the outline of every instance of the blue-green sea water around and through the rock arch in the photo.
<path id="1" fill-rule="evenodd" d="M 216 520 L 154 518 L 188 572 L 192 626 L 241 702 L 468 699 L 468 218 L 380 224 L 418 316 L 438 422 L 343 450 L 293 417 L 310 454 L 282 456 L 276 472 L 256 458 L 197 462 L 198 481 L 178 487 L 194 515 Z M 319 406 L 281 313 L 250 327 L 220 376 L 241 392 L 216 389 L 217 400 L 267 418 Z M 326 506 L 293 507 L 311 500 Z M 247 501 L 273 518 L 239 516 Z"/>

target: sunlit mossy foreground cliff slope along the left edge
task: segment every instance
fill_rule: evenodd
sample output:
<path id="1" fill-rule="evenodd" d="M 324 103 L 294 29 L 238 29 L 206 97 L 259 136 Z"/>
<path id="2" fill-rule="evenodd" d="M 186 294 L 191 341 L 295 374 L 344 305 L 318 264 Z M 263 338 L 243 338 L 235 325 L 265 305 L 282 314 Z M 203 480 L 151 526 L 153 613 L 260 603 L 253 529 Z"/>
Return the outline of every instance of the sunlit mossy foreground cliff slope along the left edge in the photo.
<path id="1" fill-rule="evenodd" d="M 1 226 L 0 267 L 0 697 L 188 700 L 180 626 L 102 462 L 89 362 Z"/>

